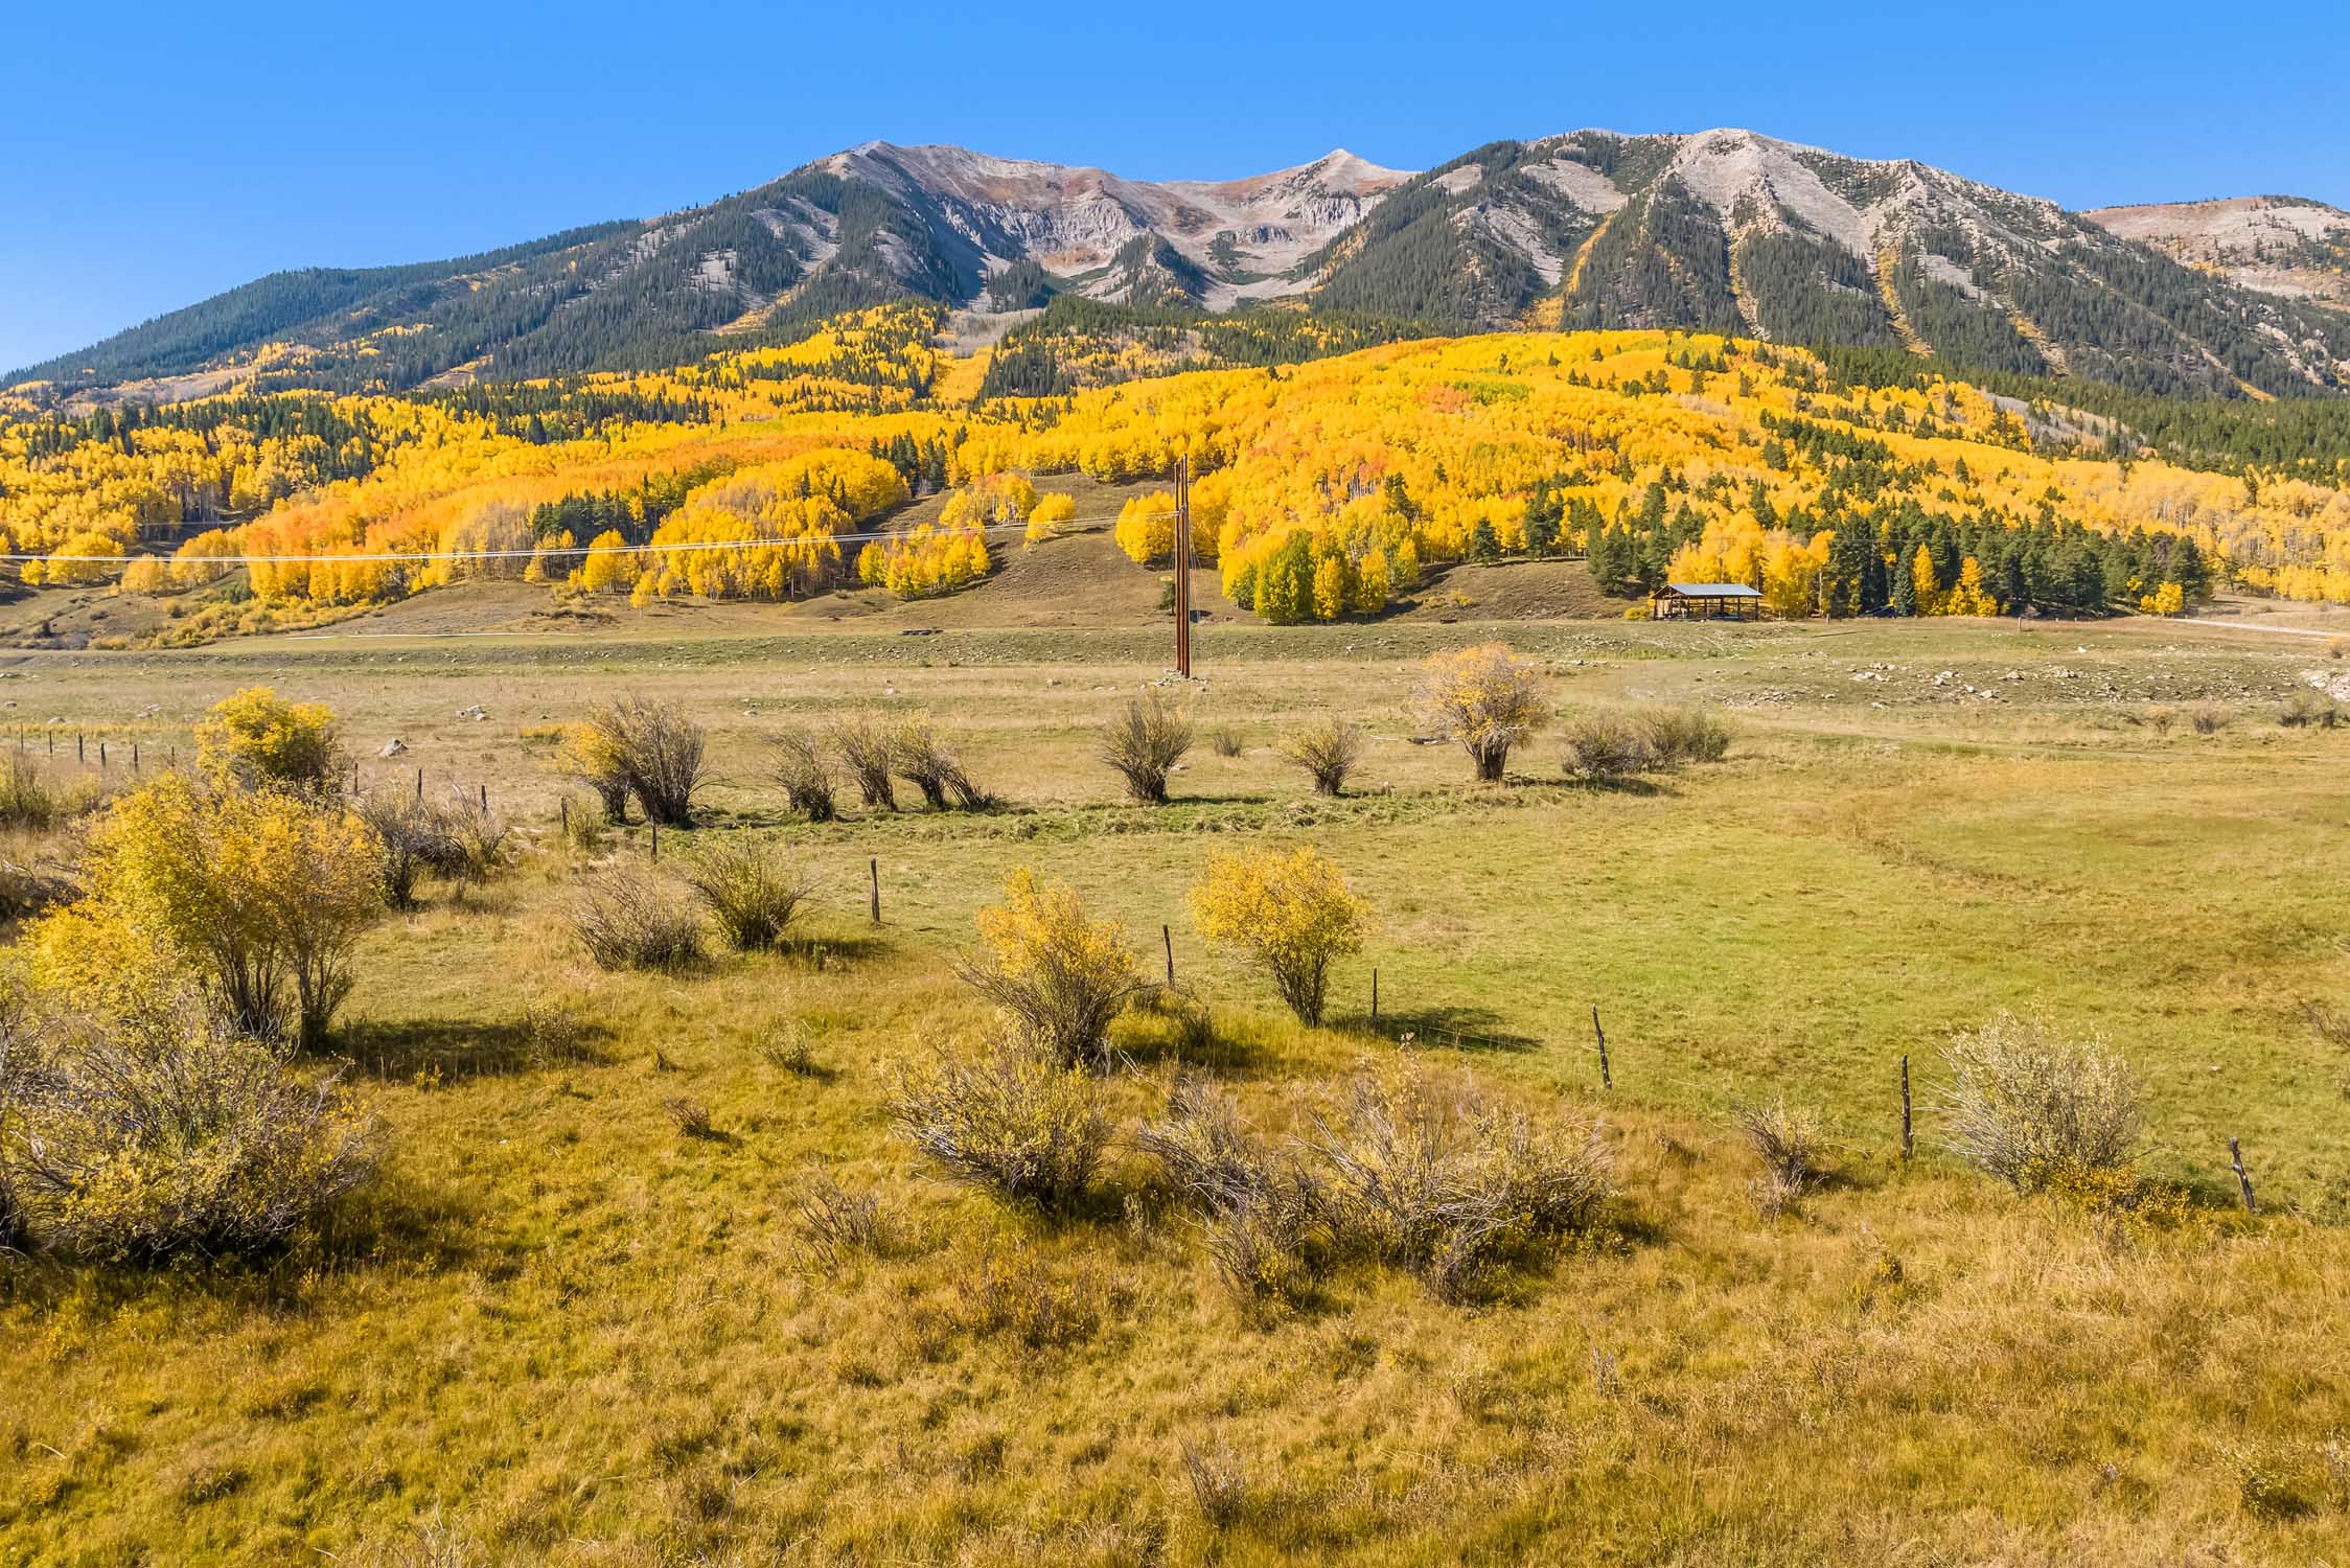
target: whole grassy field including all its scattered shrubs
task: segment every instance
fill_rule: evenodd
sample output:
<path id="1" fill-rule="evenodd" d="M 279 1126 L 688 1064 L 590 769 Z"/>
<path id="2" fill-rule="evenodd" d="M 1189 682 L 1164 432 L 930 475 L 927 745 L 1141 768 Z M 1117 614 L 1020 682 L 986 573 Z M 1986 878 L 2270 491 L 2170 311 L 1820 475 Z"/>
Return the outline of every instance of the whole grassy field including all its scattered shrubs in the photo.
<path id="1" fill-rule="evenodd" d="M 1161 644 L 0 668 L 0 1563 L 2341 1554 L 2324 639 Z"/>

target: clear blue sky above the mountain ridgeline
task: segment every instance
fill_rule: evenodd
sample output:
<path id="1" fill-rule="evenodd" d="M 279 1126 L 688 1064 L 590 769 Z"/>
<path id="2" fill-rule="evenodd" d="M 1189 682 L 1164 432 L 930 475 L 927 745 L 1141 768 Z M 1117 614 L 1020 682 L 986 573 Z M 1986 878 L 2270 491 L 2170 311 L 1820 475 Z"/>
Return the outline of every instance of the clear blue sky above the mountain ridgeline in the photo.
<path id="1" fill-rule="evenodd" d="M 649 216 L 874 136 L 1222 179 L 1746 125 L 2070 207 L 2350 207 L 2341 0 L 12 9 L 0 371 L 275 268 Z"/>

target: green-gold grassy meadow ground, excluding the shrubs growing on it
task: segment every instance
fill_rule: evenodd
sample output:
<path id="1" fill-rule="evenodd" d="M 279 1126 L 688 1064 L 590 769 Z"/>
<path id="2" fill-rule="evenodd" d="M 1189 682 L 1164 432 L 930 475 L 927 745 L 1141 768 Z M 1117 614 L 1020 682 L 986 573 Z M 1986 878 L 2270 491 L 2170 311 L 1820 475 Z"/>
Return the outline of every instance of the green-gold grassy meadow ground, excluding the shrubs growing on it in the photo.
<path id="1" fill-rule="evenodd" d="M 132 743 L 148 771 L 186 757 L 214 701 L 266 682 L 338 712 L 364 785 L 486 788 L 524 842 L 364 938 L 336 1053 L 385 1178 L 331 1225 L 258 1262 L 0 1255 L 0 1563 L 2350 1554 L 2350 1051 L 2324 1027 L 2350 990 L 2350 729 L 2275 719 L 2341 670 L 2324 639 L 1210 625 L 1198 745 L 1154 809 L 1093 731 L 1161 679 L 1163 632 L 907 630 L 0 663 L 21 726 L 0 743 L 59 773 L 75 736 L 92 771 L 101 738 L 118 776 Z M 1495 637 L 1565 712 L 1725 715 L 1730 757 L 1591 788 L 1537 738 L 1506 785 L 1469 783 L 1415 741 L 1412 686 Z M 787 844 L 818 889 L 792 952 L 682 973 L 578 952 L 573 891 L 651 853 L 642 825 L 597 851 L 555 832 L 588 797 L 552 726 L 609 693 L 710 729 L 719 780 L 660 863 Z M 926 710 L 1006 804 L 790 820 L 773 736 L 858 703 Z M 1323 715 L 1370 731 L 1342 799 L 1276 750 Z M 1325 1027 L 1191 929 L 1184 889 L 1250 844 L 1314 844 L 1375 912 Z M 1473 1074 L 1603 1119 L 1610 1222 L 1478 1305 L 1358 1265 L 1260 1314 L 1133 1147 L 1053 1220 L 945 1182 L 891 1093 L 987 1034 L 952 959 L 1015 867 L 1126 922 L 1152 971 L 1170 943 L 1213 1011 L 1206 1041 L 1119 1020 L 1121 1128 L 1177 1070 L 1271 1133 L 1365 1067 Z M 2002 1009 L 2103 1032 L 2146 1074 L 2141 1168 L 2183 1206 L 2026 1199 L 1939 1145 L 1941 1046 Z M 1774 1095 L 1833 1143 L 1786 1211 L 1732 1124 Z M 877 1199 L 872 1248 L 811 1241 L 820 1178 Z"/>

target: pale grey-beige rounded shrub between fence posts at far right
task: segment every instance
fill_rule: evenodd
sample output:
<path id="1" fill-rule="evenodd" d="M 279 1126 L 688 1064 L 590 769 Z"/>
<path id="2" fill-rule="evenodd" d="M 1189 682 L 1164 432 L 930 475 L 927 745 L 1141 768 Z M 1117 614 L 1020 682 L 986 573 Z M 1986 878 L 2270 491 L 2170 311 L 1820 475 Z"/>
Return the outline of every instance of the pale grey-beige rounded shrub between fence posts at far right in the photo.
<path id="1" fill-rule="evenodd" d="M 2103 1037 L 2063 1039 L 2014 1013 L 1950 1041 L 1950 1143 L 2021 1187 L 2122 1171 L 2146 1128 L 2138 1074 Z"/>

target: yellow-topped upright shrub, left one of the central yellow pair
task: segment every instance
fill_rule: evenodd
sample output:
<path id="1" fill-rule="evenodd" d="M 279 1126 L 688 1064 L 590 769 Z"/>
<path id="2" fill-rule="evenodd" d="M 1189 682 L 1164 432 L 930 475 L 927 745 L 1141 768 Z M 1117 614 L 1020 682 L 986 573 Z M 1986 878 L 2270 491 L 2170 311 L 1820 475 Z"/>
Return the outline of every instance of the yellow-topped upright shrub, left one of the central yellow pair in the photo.
<path id="1" fill-rule="evenodd" d="M 1041 886 L 1027 870 L 975 922 L 980 947 L 956 964 L 964 983 L 1050 1060 L 1100 1067 L 1109 1020 L 1142 990 L 1126 926 L 1088 919 L 1067 884 Z"/>

